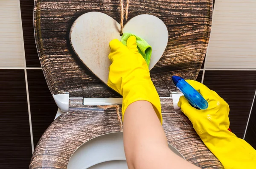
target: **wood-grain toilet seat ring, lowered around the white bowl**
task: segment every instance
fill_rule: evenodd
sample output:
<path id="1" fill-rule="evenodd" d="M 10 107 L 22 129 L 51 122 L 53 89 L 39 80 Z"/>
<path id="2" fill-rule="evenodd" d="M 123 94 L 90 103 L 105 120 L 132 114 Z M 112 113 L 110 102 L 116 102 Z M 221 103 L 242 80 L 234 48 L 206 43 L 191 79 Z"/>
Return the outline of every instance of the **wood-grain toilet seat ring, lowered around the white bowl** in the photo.
<path id="1" fill-rule="evenodd" d="M 115 108 L 104 110 L 83 106 L 82 102 L 82 99 L 70 99 L 70 112 L 59 116 L 44 132 L 29 169 L 66 169 L 71 155 L 81 144 L 96 136 L 120 131 Z M 223 169 L 198 137 L 189 119 L 174 112 L 172 99 L 161 99 L 161 104 L 163 128 L 169 144 L 187 161 L 201 168 Z"/>

